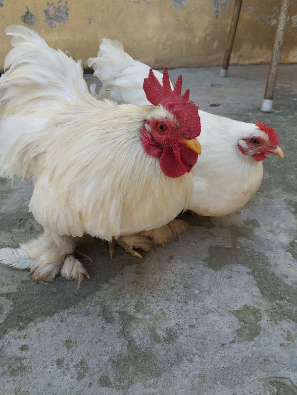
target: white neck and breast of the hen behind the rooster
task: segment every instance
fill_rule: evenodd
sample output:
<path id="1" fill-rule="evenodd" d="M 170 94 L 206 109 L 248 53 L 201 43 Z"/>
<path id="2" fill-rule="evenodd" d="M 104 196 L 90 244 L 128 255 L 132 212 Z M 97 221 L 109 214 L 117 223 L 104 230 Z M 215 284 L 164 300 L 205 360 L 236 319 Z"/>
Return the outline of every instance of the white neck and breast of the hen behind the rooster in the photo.
<path id="1" fill-rule="evenodd" d="M 194 168 L 193 195 L 187 209 L 210 217 L 232 214 L 244 207 L 261 185 L 263 163 L 238 149 L 241 136 L 254 135 L 258 128 L 203 111 L 200 116 L 203 151 Z"/>

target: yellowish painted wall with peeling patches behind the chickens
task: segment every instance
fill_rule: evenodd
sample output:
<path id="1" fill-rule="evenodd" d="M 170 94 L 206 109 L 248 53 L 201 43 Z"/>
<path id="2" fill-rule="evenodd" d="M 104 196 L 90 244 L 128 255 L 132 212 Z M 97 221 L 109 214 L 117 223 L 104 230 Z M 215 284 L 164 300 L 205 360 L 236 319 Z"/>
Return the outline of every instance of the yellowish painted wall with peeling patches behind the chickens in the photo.
<path id="1" fill-rule="evenodd" d="M 244 0 L 231 63 L 267 63 L 281 0 Z M 297 62 L 297 0 L 291 1 L 282 62 Z M 0 65 L 22 23 L 75 59 L 97 54 L 101 37 L 121 40 L 153 67 L 220 65 L 234 0 L 0 0 Z M 0 66 L 1 68 L 1 66 Z"/>

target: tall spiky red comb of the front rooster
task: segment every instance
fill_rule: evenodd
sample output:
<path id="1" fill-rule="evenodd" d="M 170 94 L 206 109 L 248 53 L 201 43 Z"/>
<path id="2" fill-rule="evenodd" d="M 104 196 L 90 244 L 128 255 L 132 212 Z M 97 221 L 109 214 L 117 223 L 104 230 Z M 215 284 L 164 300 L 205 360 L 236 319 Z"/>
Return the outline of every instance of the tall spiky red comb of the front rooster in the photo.
<path id="1" fill-rule="evenodd" d="M 182 95 L 182 76 L 179 75 L 174 89 L 171 89 L 167 67 L 163 71 L 163 86 L 155 77 L 152 69 L 149 69 L 148 78 L 144 80 L 144 91 L 148 101 L 154 106 L 162 105 L 173 113 L 182 123 L 185 134 L 189 138 L 199 136 L 201 130 L 198 106 L 189 101 L 190 90 L 187 89 Z"/>

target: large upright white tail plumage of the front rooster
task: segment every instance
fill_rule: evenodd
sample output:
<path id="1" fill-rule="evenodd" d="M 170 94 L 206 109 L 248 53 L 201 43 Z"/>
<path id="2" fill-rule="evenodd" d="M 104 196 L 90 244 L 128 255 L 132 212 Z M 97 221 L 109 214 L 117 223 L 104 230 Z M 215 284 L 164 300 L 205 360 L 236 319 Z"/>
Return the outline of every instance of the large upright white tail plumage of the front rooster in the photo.
<path id="1" fill-rule="evenodd" d="M 5 33 L 13 36 L 13 48 L 0 77 L 0 174 L 31 178 L 43 166 L 53 114 L 78 97 L 93 98 L 80 62 L 49 48 L 27 27 L 11 25 Z"/>

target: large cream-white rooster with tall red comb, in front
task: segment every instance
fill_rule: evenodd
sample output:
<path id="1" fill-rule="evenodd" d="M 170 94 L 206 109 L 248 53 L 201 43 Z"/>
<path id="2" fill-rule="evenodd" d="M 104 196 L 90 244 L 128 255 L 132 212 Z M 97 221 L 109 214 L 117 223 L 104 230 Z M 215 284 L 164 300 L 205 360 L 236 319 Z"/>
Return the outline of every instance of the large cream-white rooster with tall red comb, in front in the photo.
<path id="1" fill-rule="evenodd" d="M 181 76 L 171 89 L 166 69 L 163 86 L 152 71 L 144 76 L 146 105 L 97 100 L 80 62 L 26 27 L 5 32 L 14 48 L 0 78 L 0 173 L 33 179 L 29 208 L 45 231 L 1 249 L 0 262 L 30 268 L 36 281 L 59 272 L 89 277 L 73 255 L 74 236 L 129 238 L 187 206 L 200 153 L 198 107 L 189 90 L 181 95 Z"/>

